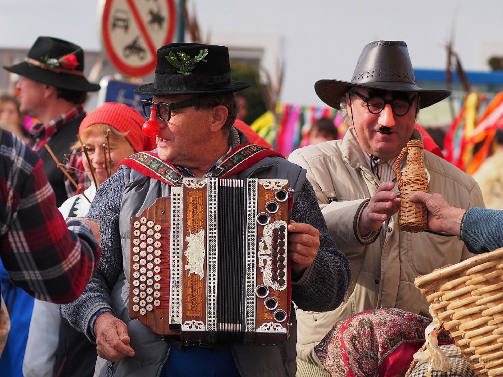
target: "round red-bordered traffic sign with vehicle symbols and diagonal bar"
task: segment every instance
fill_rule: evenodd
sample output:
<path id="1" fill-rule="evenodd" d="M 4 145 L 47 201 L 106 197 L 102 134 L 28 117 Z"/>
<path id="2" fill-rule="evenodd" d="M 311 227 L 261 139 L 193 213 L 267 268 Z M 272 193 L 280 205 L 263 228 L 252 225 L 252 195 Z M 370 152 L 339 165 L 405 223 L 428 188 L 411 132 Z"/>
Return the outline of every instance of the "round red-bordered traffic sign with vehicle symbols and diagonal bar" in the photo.
<path id="1" fill-rule="evenodd" d="M 130 77 L 151 73 L 156 50 L 173 40 L 176 20 L 174 0 L 105 0 L 101 29 L 112 65 Z"/>

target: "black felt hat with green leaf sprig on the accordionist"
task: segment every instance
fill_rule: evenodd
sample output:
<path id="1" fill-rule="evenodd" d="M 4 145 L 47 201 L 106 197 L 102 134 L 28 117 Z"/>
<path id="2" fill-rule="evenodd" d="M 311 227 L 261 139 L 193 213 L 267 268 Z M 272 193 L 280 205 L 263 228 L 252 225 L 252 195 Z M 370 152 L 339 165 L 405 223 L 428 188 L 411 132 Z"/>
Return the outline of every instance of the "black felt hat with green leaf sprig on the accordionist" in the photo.
<path id="1" fill-rule="evenodd" d="M 138 86 L 147 96 L 215 94 L 239 91 L 249 82 L 230 77 L 229 49 L 198 43 L 170 43 L 157 50 L 154 82 Z"/>

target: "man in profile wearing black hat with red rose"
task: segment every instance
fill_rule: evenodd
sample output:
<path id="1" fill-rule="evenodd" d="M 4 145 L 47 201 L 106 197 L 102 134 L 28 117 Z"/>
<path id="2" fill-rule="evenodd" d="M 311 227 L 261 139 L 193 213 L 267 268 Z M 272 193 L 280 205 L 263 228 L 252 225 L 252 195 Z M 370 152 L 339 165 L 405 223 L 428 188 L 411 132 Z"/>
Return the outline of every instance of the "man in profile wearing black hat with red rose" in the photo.
<path id="1" fill-rule="evenodd" d="M 20 111 L 38 120 L 29 130 L 29 145 L 44 161 L 45 174 L 56 194 L 56 205 L 60 206 L 75 195 L 76 188 L 57 167 L 45 145 L 59 162 L 64 161 L 86 116 L 83 104 L 87 92 L 99 90 L 100 85 L 84 77 L 83 50 L 52 37 L 39 37 L 23 62 L 4 68 L 21 76 L 16 85 Z M 80 160 L 80 153 L 71 155 L 67 168 L 81 188 L 86 189 L 86 174 L 77 173 L 82 169 Z"/>

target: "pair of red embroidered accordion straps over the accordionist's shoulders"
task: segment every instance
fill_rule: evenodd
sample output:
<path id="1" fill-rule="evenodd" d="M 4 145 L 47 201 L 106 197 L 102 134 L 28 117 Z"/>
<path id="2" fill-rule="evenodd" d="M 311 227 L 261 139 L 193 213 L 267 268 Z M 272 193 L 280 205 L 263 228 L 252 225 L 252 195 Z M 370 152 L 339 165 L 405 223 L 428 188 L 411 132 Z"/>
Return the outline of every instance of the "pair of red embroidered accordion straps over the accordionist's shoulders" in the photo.
<path id="1" fill-rule="evenodd" d="M 285 158 L 275 150 L 256 144 L 243 143 L 232 149 L 229 155 L 208 175 L 224 178 L 243 171 L 266 157 L 272 156 Z M 131 169 L 171 186 L 182 185 L 183 174 L 169 162 L 162 161 L 156 153 L 138 152 L 122 160 L 120 165 L 127 165 Z"/>

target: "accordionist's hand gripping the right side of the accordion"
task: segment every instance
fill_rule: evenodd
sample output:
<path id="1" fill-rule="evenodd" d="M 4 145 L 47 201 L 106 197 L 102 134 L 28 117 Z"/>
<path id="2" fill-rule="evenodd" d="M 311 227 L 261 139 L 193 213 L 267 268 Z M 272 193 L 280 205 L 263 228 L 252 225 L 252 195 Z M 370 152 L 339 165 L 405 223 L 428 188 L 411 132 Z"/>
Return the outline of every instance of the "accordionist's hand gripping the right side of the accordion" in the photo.
<path id="1" fill-rule="evenodd" d="M 312 264 L 318 248 L 319 230 L 292 220 L 288 225 L 288 259 L 294 275 L 303 273 Z"/>

